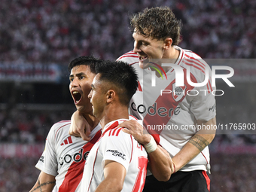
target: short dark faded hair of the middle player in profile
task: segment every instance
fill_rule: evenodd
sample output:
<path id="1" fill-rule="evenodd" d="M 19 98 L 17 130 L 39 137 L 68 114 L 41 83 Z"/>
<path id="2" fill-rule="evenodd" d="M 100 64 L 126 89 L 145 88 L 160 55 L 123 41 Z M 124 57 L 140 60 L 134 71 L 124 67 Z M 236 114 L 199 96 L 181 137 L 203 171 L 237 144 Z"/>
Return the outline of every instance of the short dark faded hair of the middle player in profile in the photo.
<path id="1" fill-rule="evenodd" d="M 99 81 L 108 81 L 117 88 L 117 94 L 123 105 L 129 105 L 130 99 L 138 88 L 138 75 L 135 69 L 126 62 L 105 60 L 96 66 Z"/>

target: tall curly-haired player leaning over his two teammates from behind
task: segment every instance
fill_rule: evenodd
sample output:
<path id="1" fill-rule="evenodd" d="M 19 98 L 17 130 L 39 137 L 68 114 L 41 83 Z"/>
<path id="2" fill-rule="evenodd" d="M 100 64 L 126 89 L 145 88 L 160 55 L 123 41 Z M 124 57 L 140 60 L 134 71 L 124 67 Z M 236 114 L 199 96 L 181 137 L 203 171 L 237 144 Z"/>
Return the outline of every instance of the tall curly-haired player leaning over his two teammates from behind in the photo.
<path id="1" fill-rule="evenodd" d="M 208 145 L 215 137 L 212 127 L 216 125 L 215 96 L 212 95 L 215 87 L 211 85 L 209 66 L 196 53 L 178 47 L 181 23 L 169 8 L 146 8 L 130 20 L 134 49 L 118 60 L 130 63 L 139 74 L 139 87 L 130 101 L 130 113 L 143 120 L 151 135 L 143 133 L 136 121 L 125 121 L 120 126 L 148 147 L 154 145 L 151 137 L 154 136 L 158 144 L 156 151 L 161 145 L 170 155 L 168 161 L 167 156 L 156 156 L 156 151 L 148 153 L 153 175 L 146 178 L 144 191 L 209 191 Z M 184 74 L 183 86 L 175 84 L 178 68 Z M 160 73 L 154 75 L 157 70 Z M 206 84 L 191 86 L 187 77 L 194 83 L 206 79 Z M 84 134 L 83 127 L 78 127 L 71 132 Z M 160 128 L 156 130 L 156 127 Z M 197 129 L 199 127 L 210 129 Z"/>

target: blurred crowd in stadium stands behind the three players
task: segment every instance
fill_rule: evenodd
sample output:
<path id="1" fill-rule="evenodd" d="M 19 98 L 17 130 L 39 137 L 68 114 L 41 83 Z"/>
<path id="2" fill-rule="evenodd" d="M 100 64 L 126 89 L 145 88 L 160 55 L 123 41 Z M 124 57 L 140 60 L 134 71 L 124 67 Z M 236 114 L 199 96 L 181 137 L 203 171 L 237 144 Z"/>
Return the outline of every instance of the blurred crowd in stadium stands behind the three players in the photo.
<path id="1" fill-rule="evenodd" d="M 130 15 L 169 6 L 183 24 L 180 47 L 204 59 L 256 57 L 254 0 L 0 3 L 0 192 L 28 191 L 35 184 L 35 163 L 50 126 L 69 120 L 75 111 L 67 65 L 81 55 L 117 59 L 133 50 Z M 225 90 L 216 97 L 218 123 L 255 123 L 255 81 L 236 81 L 233 90 L 223 82 L 217 87 Z M 34 145 L 41 146 L 41 152 L 8 156 L 2 150 Z M 256 135 L 218 134 L 210 148 L 211 191 L 254 191 Z"/>

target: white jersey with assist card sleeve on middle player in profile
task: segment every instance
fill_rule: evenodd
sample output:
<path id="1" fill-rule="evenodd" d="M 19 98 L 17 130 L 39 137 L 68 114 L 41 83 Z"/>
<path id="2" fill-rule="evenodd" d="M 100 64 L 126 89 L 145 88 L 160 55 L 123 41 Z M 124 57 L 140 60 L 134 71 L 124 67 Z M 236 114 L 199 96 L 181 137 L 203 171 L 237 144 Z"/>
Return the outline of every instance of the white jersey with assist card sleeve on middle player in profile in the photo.
<path id="1" fill-rule="evenodd" d="M 81 191 L 95 191 L 104 180 L 104 161 L 114 160 L 126 169 L 122 191 L 142 191 L 147 173 L 148 154 L 131 136 L 117 128 L 124 120 L 106 124 L 102 136 L 93 146 L 84 166 Z"/>

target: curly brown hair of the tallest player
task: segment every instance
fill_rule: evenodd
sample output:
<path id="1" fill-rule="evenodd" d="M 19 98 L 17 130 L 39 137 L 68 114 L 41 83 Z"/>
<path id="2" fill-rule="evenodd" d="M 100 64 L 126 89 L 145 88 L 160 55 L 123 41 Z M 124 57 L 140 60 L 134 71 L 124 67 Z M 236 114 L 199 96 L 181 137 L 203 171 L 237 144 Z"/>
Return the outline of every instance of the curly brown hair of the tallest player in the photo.
<path id="1" fill-rule="evenodd" d="M 177 20 L 168 7 L 146 8 L 130 17 L 131 32 L 138 32 L 157 40 L 172 38 L 172 45 L 181 41 L 181 20 Z"/>

